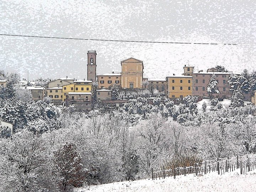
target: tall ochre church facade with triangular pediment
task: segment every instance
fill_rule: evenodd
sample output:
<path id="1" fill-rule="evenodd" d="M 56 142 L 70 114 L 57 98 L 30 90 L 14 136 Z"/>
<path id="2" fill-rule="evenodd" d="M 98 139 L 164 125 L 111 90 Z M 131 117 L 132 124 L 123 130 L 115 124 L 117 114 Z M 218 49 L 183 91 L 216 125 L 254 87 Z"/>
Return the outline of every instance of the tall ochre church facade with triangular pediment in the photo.
<path id="1" fill-rule="evenodd" d="M 143 80 L 143 62 L 129 58 L 121 61 L 121 86 L 122 88 L 141 89 Z"/>

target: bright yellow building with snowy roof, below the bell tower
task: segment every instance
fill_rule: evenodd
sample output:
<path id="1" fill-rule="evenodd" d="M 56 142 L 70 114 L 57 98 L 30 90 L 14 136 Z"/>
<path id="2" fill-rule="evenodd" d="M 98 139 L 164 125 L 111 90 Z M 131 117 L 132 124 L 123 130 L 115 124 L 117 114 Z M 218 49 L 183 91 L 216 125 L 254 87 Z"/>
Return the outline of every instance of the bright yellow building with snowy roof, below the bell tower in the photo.
<path id="1" fill-rule="evenodd" d="M 66 101 L 69 92 L 92 92 L 91 80 L 74 80 L 74 83 L 62 86 L 62 101 Z"/>

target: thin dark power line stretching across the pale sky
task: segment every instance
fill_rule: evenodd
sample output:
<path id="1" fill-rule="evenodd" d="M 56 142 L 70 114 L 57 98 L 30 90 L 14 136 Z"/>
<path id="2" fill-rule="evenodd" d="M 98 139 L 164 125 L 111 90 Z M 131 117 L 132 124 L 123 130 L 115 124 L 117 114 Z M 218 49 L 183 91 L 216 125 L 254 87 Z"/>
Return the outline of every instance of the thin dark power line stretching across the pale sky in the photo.
<path id="1" fill-rule="evenodd" d="M 170 43 L 170 44 L 203 44 L 203 45 L 238 45 L 238 44 L 251 44 L 255 43 L 185 43 L 185 42 L 164 42 L 164 41 L 128 41 L 128 40 L 112 40 L 112 39 L 85 39 L 85 38 L 68 38 L 68 37 L 47 37 L 47 36 L 31 36 L 31 35 L 14 35 L 14 34 L 0 34 L 1 36 L 13 37 L 35 37 L 35 38 L 51 38 L 51 39 L 75 39 L 86 41 L 112 41 L 112 42 L 135 42 L 135 43 Z"/>

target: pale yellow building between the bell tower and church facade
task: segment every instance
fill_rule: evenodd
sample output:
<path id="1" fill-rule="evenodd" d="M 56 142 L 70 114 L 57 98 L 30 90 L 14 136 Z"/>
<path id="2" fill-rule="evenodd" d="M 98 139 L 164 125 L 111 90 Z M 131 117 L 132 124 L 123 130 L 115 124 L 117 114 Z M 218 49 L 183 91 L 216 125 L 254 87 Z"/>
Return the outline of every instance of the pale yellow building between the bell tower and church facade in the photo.
<path id="1" fill-rule="evenodd" d="M 121 73 L 107 73 L 103 75 L 97 75 L 98 79 L 98 88 L 108 87 L 116 84 L 121 87 Z"/>

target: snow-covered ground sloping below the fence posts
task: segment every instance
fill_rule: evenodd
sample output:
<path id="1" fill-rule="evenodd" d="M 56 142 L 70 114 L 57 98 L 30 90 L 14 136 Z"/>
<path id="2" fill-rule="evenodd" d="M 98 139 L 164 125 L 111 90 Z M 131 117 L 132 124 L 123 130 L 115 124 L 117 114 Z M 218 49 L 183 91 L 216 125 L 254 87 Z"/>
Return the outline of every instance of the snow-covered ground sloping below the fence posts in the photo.
<path id="1" fill-rule="evenodd" d="M 161 180 L 139 180 L 108 183 L 104 185 L 91 186 L 90 192 L 251 192 L 256 190 L 256 170 L 245 175 L 239 174 L 239 169 L 218 175 L 213 172 L 203 176 L 189 174 L 186 176 L 176 176 Z M 76 192 L 85 192 L 79 189 Z"/>

